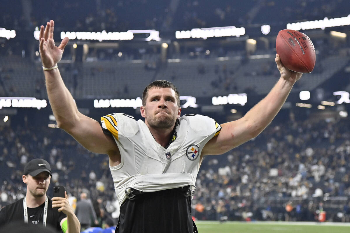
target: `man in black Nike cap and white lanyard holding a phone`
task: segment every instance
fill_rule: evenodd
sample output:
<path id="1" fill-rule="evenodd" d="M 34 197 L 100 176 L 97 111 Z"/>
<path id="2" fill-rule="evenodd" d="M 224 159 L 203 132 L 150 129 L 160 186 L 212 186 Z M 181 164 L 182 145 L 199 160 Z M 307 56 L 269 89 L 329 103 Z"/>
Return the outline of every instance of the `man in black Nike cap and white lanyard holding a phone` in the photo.
<path id="1" fill-rule="evenodd" d="M 69 205 L 67 195 L 49 198 L 46 192 L 51 180 L 51 167 L 46 160 L 29 161 L 22 180 L 27 184 L 24 198 L 3 207 L 0 211 L 0 227 L 14 221 L 41 224 L 64 233 L 79 233 L 80 223 Z"/>

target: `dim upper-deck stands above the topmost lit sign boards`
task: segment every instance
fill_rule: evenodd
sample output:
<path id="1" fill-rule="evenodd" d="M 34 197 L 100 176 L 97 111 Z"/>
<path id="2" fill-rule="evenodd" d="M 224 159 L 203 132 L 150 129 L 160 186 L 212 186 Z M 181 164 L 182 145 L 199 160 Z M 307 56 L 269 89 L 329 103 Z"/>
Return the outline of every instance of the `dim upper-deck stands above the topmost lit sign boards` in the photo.
<path id="1" fill-rule="evenodd" d="M 175 1 L 176 2 L 176 1 Z M 279 24 L 283 21 L 320 20 L 323 17 L 347 16 L 346 0 L 254 0 L 240 4 L 224 1 L 161 1 L 149 0 L 70 2 L 14 1 L 16 7 L 1 7 L 3 26 L 9 29 L 34 29 L 48 18 L 58 28 L 82 31 L 126 31 L 135 29 L 189 30 L 190 28 L 242 26 L 254 23 Z M 172 4 L 171 4 L 172 3 Z M 84 8 L 80 7 L 84 4 Z M 339 7 L 340 6 L 340 7 Z M 34 10 L 35 9 L 35 10 Z M 46 10 L 50 9 L 50 10 Z M 52 10 L 55 9 L 55 10 Z M 312 10 L 309 10 L 312 9 Z M 69 17 L 63 17 L 62 12 Z M 49 14 L 49 15 L 48 15 Z M 271 17 L 273 15 L 274 17 Z M 283 22 L 284 23 L 284 22 Z M 0 25 L 2 26 L 2 25 Z"/>

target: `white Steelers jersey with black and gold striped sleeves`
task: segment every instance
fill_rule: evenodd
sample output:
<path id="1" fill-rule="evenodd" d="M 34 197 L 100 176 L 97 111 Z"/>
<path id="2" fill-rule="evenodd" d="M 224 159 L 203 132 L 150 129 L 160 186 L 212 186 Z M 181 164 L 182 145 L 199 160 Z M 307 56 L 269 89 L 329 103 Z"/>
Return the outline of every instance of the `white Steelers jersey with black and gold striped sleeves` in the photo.
<path id="1" fill-rule="evenodd" d="M 167 148 L 158 144 L 144 121 L 115 113 L 101 117 L 104 132 L 116 141 L 121 163 L 111 167 L 114 188 L 121 205 L 125 189 L 153 192 L 195 185 L 205 144 L 219 134 L 221 126 L 210 117 L 180 117 Z"/>

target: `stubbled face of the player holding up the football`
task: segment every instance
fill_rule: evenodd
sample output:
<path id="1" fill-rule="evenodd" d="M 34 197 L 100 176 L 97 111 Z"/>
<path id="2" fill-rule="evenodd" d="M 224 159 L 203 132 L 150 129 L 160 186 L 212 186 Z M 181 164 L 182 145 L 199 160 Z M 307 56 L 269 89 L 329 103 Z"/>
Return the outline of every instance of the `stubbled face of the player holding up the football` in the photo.
<path id="1" fill-rule="evenodd" d="M 176 93 L 172 88 L 153 87 L 148 90 L 146 106 L 141 107 L 146 124 L 155 129 L 172 128 L 180 114 L 181 108 L 177 107 Z"/>

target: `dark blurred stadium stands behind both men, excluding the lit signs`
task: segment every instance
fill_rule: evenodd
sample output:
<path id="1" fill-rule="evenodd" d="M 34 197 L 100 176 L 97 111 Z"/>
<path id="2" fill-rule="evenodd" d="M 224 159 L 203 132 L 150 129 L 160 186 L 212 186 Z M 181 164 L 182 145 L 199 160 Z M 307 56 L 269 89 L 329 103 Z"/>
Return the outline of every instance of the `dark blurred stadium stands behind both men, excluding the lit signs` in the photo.
<path id="1" fill-rule="evenodd" d="M 141 119 L 139 107 L 94 108 L 94 101 L 136 99 L 145 86 L 160 79 L 173 82 L 181 96 L 197 98 L 199 107 L 183 108 L 182 114 L 208 115 L 218 123 L 238 119 L 279 78 L 274 61 L 279 30 L 292 22 L 349 17 L 350 9 L 348 0 L 0 2 L 0 28 L 16 31 L 15 38 L 0 37 L 0 99 L 47 100 L 33 32 L 50 19 L 55 20 L 56 43 L 61 31 L 160 32 L 161 41 L 145 41 L 144 35 L 130 41 L 70 40 L 58 66 L 79 110 L 97 121 L 112 112 Z M 264 24 L 271 25 L 268 35 L 260 31 Z M 178 30 L 228 26 L 245 27 L 246 34 L 175 38 Z M 195 218 L 315 221 L 323 202 L 328 221 L 350 221 L 349 96 L 349 102 L 345 98 L 335 106 L 321 104 L 339 101 L 334 92 L 350 92 L 349 29 L 303 31 L 315 45 L 314 71 L 295 84 L 287 103 L 258 137 L 226 154 L 204 158 L 192 201 Z M 338 38 L 331 31 L 347 36 Z M 255 40 L 253 48 L 248 38 Z M 309 100 L 300 99 L 305 90 L 311 93 Z M 246 93 L 247 103 L 212 104 L 212 97 L 234 93 Z M 12 108 L 1 101 L 0 208 L 23 197 L 23 167 L 40 157 L 51 163 L 52 183 L 64 185 L 75 197 L 85 190 L 93 201 L 102 198 L 110 214 L 116 210 L 107 155 L 87 151 L 55 128 L 48 100 L 41 109 Z M 9 120 L 3 122 L 5 116 Z M 286 211 L 287 205 L 293 210 Z"/>

